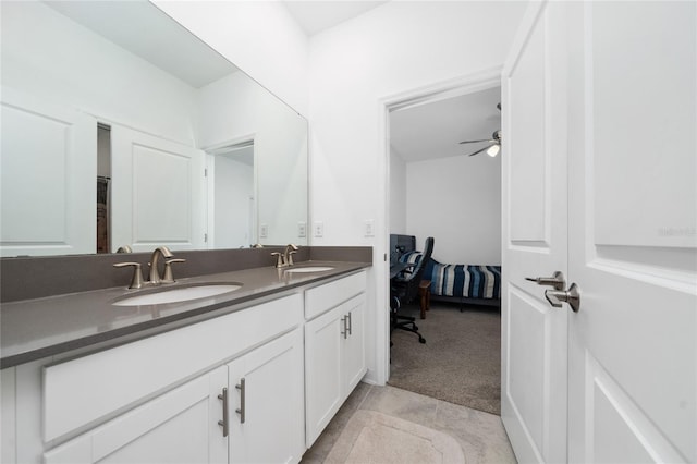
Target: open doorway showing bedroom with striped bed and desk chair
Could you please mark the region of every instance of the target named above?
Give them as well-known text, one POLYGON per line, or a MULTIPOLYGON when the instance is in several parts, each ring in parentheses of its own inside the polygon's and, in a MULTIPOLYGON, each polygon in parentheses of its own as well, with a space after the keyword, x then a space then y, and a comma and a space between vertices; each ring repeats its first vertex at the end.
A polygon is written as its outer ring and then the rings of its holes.
MULTIPOLYGON (((432 236, 436 262, 481 265, 485 277, 472 274, 467 284, 486 279, 493 270, 489 267, 501 264, 501 158, 487 156, 494 145, 487 141, 501 124, 499 101, 500 80, 491 73, 474 85, 388 107, 389 233, 414 235, 417 251, 432 236)), ((389 249, 391 259, 395 253, 389 249)), ((427 265, 423 279, 429 280, 430 272, 427 265)), ((452 284, 463 279, 448 279, 444 293, 453 294, 452 284)), ((442 279, 440 284, 442 290, 442 279)), ((419 298, 403 305, 400 314, 416 318, 426 343, 412 332, 391 332, 388 383, 500 414, 501 316, 492 290, 489 298, 464 304, 433 292, 425 319, 419 298)))

